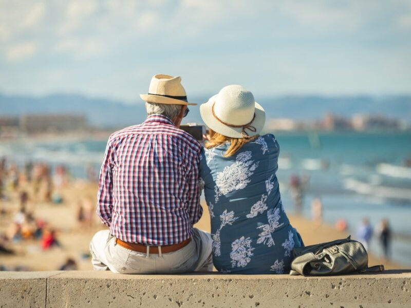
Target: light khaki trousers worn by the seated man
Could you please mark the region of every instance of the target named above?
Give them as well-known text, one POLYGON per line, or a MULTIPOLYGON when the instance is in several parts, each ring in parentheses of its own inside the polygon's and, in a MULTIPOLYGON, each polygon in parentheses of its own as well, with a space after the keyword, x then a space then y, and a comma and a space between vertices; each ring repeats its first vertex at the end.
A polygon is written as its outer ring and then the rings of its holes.
POLYGON ((194 228, 191 242, 168 254, 135 252, 115 243, 108 230, 96 233, 90 243, 95 271, 120 274, 181 274, 213 271, 212 239, 209 233, 194 228))

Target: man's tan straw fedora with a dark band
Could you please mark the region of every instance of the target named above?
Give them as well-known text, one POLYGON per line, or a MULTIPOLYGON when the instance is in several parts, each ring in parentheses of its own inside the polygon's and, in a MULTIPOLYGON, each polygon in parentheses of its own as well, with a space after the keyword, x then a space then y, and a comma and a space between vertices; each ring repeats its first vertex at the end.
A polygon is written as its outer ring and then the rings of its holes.
POLYGON ((187 95, 181 85, 181 77, 158 74, 154 75, 148 88, 148 94, 140 94, 143 101, 159 104, 197 105, 187 102, 187 95))

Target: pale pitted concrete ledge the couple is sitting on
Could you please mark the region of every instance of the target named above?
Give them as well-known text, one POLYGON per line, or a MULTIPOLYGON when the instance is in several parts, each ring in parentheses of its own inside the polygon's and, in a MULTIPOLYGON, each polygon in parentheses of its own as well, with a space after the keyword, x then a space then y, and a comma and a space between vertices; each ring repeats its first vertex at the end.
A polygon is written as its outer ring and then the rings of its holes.
POLYGON ((411 270, 375 275, 0 272, 1 307, 410 307, 411 270))

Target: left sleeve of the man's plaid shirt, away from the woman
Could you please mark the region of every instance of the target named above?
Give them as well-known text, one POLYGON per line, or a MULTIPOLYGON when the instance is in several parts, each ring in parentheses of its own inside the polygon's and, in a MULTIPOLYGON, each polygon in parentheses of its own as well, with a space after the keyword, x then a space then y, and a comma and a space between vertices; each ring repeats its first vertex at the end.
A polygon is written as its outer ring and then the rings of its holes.
POLYGON ((111 210, 113 210, 113 173, 111 171, 112 155, 113 148, 111 148, 110 139, 108 139, 103 164, 100 169, 99 191, 97 193, 97 215, 106 226, 110 226, 111 224, 111 210))

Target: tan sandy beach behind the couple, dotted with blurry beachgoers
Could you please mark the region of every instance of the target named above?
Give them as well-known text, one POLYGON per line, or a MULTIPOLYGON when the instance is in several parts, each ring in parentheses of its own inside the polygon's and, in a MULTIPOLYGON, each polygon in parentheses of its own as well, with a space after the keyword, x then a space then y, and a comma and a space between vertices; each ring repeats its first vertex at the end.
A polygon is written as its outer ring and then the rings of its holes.
MULTIPOLYGON (((5 266, 24 266, 30 271, 52 271, 58 269, 67 258, 77 262, 78 269, 92 269, 89 258, 89 242, 91 237, 105 226, 99 222, 94 215, 94 225, 85 228, 76 219, 78 203, 84 198, 91 198, 95 204, 97 183, 77 180, 61 191, 64 202, 52 204, 38 202, 33 206, 35 217, 45 219, 50 226, 57 230, 60 247, 53 247, 42 251, 40 242, 37 240, 24 240, 8 245, 15 255, 0 255, 0 264, 5 266)), ((9 201, 3 201, 3 208, 7 214, 0 216, 0 232, 6 229, 12 221, 13 213, 17 209, 16 194, 9 201)), ((196 227, 210 231, 210 216, 207 206, 203 204, 204 214, 196 227)), ((298 229, 306 245, 326 242, 334 239, 347 237, 345 232, 340 232, 334 227, 322 224, 316 226, 312 221, 296 216, 289 216, 292 225, 298 229)), ((369 266, 384 264, 387 269, 406 268, 406 266, 386 260, 369 256, 369 266)))

